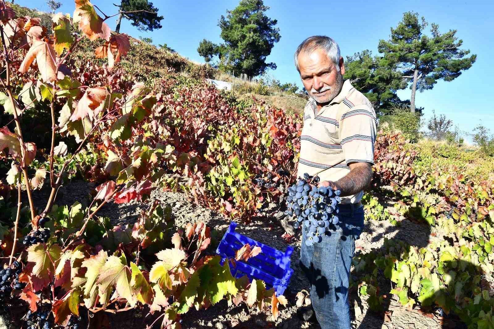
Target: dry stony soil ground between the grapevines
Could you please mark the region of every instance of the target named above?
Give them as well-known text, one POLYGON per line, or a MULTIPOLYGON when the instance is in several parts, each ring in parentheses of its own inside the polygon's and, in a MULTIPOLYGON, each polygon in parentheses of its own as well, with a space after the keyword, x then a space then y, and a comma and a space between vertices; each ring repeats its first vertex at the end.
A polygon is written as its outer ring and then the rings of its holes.
MULTIPOLYGON (((75 201, 86 204, 88 195, 94 189, 94 184, 84 181, 73 181, 60 191, 56 204, 72 205, 75 201), (70 193, 68 193, 70 191, 70 193)), ((37 206, 44 206, 48 190, 36 191, 35 203, 37 206)), ((155 190, 150 199, 144 203, 134 202, 127 205, 111 204, 103 207, 99 212, 101 216, 108 216, 114 225, 133 223, 141 211, 149 204, 158 199, 162 206, 173 208, 172 216, 177 227, 182 227, 187 222, 204 221, 211 230, 216 230, 221 237, 230 220, 214 211, 194 204, 187 199, 183 193, 165 192, 161 189, 155 190)), ((26 200, 27 201, 27 200, 26 200)), ((384 238, 401 239, 412 246, 426 246, 430 235, 428 227, 412 223, 408 220, 401 220, 400 226, 392 225, 387 221, 371 222, 366 220, 366 226, 359 240, 356 242, 357 252, 369 252, 372 248, 379 248, 383 245, 384 238)), ((239 223, 237 232, 244 234, 263 244, 285 250, 287 241, 282 237, 284 229, 276 224, 274 218, 256 218, 251 223, 244 225, 239 223)), ((290 285, 284 293, 288 299, 288 306, 280 306, 280 316, 277 321, 273 321, 270 315, 248 309, 245 305, 229 307, 226 301, 209 307, 207 310, 196 311, 191 309, 182 317, 182 326, 185 329, 252 329, 252 328, 314 328, 320 329, 319 325, 311 325, 300 321, 296 315, 295 295, 302 289, 308 289, 309 283, 301 273, 298 266, 300 256, 300 236, 296 235, 289 245, 294 247, 291 257, 291 267, 294 270, 290 285)), ((380 285, 381 291, 389 291, 389 282, 383 280, 380 285), (387 290, 386 290, 387 289, 387 290)), ((409 311, 402 307, 398 300, 391 294, 387 294, 386 312, 381 314, 371 313, 365 300, 361 300, 356 289, 350 291, 350 309, 352 317, 352 329, 440 329, 440 328, 462 328, 462 326, 451 319, 440 317, 438 314, 422 313, 420 309, 409 311), (458 327, 456 327, 458 326, 458 327)), ((109 320, 112 329, 134 328, 145 329, 152 319, 144 318, 145 313, 125 312, 118 317, 105 319, 109 320)), ((98 326, 99 327, 99 326, 98 326)), ((0 317, 0 329, 1 317, 0 317)))

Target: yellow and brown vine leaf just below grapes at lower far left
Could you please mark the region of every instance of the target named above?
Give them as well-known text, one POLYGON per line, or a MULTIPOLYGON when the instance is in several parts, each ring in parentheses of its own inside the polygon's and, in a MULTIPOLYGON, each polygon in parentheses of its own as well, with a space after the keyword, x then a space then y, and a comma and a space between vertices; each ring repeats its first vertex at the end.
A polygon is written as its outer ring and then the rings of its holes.
POLYGON ((55 273, 55 265, 62 249, 60 246, 53 244, 47 246, 45 244, 36 244, 28 249, 28 262, 32 262, 33 270, 31 280, 33 281, 34 291, 44 288, 51 281, 51 277, 55 273))

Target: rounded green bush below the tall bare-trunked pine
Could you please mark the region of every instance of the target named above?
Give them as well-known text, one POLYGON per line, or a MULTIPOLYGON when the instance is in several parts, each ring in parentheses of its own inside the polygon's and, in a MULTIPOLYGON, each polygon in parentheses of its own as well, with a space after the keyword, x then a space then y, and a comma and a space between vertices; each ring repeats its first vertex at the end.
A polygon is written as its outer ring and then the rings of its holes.
POLYGON ((400 130, 412 142, 420 138, 420 117, 406 109, 396 109, 393 114, 379 118, 379 128, 383 130, 400 130))

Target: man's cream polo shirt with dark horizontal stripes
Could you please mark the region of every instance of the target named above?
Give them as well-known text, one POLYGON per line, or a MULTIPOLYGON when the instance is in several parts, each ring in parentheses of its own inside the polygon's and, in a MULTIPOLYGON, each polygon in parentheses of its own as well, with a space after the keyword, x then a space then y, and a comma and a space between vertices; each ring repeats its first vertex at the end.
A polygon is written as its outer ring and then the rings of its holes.
MULTIPOLYGON (((350 172, 350 163, 374 164, 376 115, 371 102, 349 80, 328 105, 316 111, 311 98, 304 109, 297 177, 307 172, 321 181, 337 181, 350 172)), ((343 197, 341 203, 358 203, 363 195, 343 197)))

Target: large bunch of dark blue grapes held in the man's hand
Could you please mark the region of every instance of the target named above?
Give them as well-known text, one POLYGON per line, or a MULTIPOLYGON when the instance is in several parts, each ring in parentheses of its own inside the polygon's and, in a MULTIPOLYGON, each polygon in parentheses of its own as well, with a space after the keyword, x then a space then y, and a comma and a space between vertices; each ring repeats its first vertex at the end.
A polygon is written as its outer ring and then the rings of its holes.
POLYGON ((328 228, 339 222, 337 204, 341 201, 339 190, 332 190, 327 187, 319 187, 319 177, 312 177, 308 173, 304 178, 300 178, 297 183, 288 188, 286 198, 287 210, 285 214, 296 218, 294 228, 305 225, 309 229, 305 244, 312 246, 320 243, 323 234, 328 232, 328 228))

